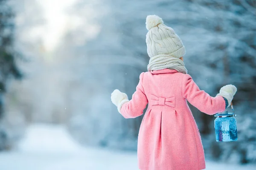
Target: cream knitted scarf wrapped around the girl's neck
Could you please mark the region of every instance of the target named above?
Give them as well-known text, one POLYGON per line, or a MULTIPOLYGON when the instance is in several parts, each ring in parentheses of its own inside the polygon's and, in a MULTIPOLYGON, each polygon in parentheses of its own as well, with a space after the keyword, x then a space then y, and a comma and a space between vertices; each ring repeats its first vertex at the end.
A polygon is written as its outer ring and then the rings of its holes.
POLYGON ((178 72, 184 74, 187 74, 188 72, 184 66, 184 62, 181 59, 166 54, 159 54, 150 58, 148 71, 162 70, 165 68, 177 70, 178 72))

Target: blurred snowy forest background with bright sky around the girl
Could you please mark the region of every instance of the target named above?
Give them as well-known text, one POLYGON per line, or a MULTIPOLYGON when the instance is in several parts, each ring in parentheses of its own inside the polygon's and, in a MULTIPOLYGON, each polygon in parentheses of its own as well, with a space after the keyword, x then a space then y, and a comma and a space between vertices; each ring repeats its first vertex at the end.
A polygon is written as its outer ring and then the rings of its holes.
POLYGON ((180 36, 184 63, 215 96, 236 85, 238 141, 217 143, 214 117, 192 108, 207 159, 256 163, 255 0, 0 0, 0 150, 35 122, 66 125, 79 143, 136 150, 143 116, 111 103, 147 71, 145 18, 180 36))

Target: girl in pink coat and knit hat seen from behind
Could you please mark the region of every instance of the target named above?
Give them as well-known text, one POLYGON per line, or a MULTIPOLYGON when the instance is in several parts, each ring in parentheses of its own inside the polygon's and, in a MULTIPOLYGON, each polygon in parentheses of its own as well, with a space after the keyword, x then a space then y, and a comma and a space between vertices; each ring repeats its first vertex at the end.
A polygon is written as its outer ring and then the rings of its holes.
POLYGON ((213 115, 230 106, 236 87, 226 85, 216 97, 201 91, 187 74, 185 47, 174 30, 156 15, 147 17, 146 28, 148 72, 140 74, 130 101, 119 90, 113 91, 111 101, 125 118, 142 115, 148 104, 138 138, 140 170, 203 170, 201 136, 187 101, 213 115))

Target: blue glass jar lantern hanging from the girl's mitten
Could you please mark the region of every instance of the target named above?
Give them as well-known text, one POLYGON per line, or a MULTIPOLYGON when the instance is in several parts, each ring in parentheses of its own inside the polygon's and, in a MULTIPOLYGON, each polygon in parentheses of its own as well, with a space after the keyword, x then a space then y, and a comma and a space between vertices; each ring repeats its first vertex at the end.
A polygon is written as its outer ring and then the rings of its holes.
MULTIPOLYGON (((232 110, 233 106, 231 105, 232 110)), ((215 136, 217 142, 237 141, 236 114, 229 113, 227 110, 214 115, 215 136)))

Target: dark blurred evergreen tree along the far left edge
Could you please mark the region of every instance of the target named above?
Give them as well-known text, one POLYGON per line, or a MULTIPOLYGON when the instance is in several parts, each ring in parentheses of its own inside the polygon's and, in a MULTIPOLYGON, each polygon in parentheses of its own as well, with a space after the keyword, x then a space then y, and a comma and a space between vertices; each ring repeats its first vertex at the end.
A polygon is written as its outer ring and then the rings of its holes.
MULTIPOLYGON (((4 93, 9 79, 21 78, 16 64, 13 49, 14 13, 7 4, 7 0, 0 0, 0 119, 4 116, 4 93)), ((8 147, 8 136, 2 121, 0 121, 0 150, 8 147)))

